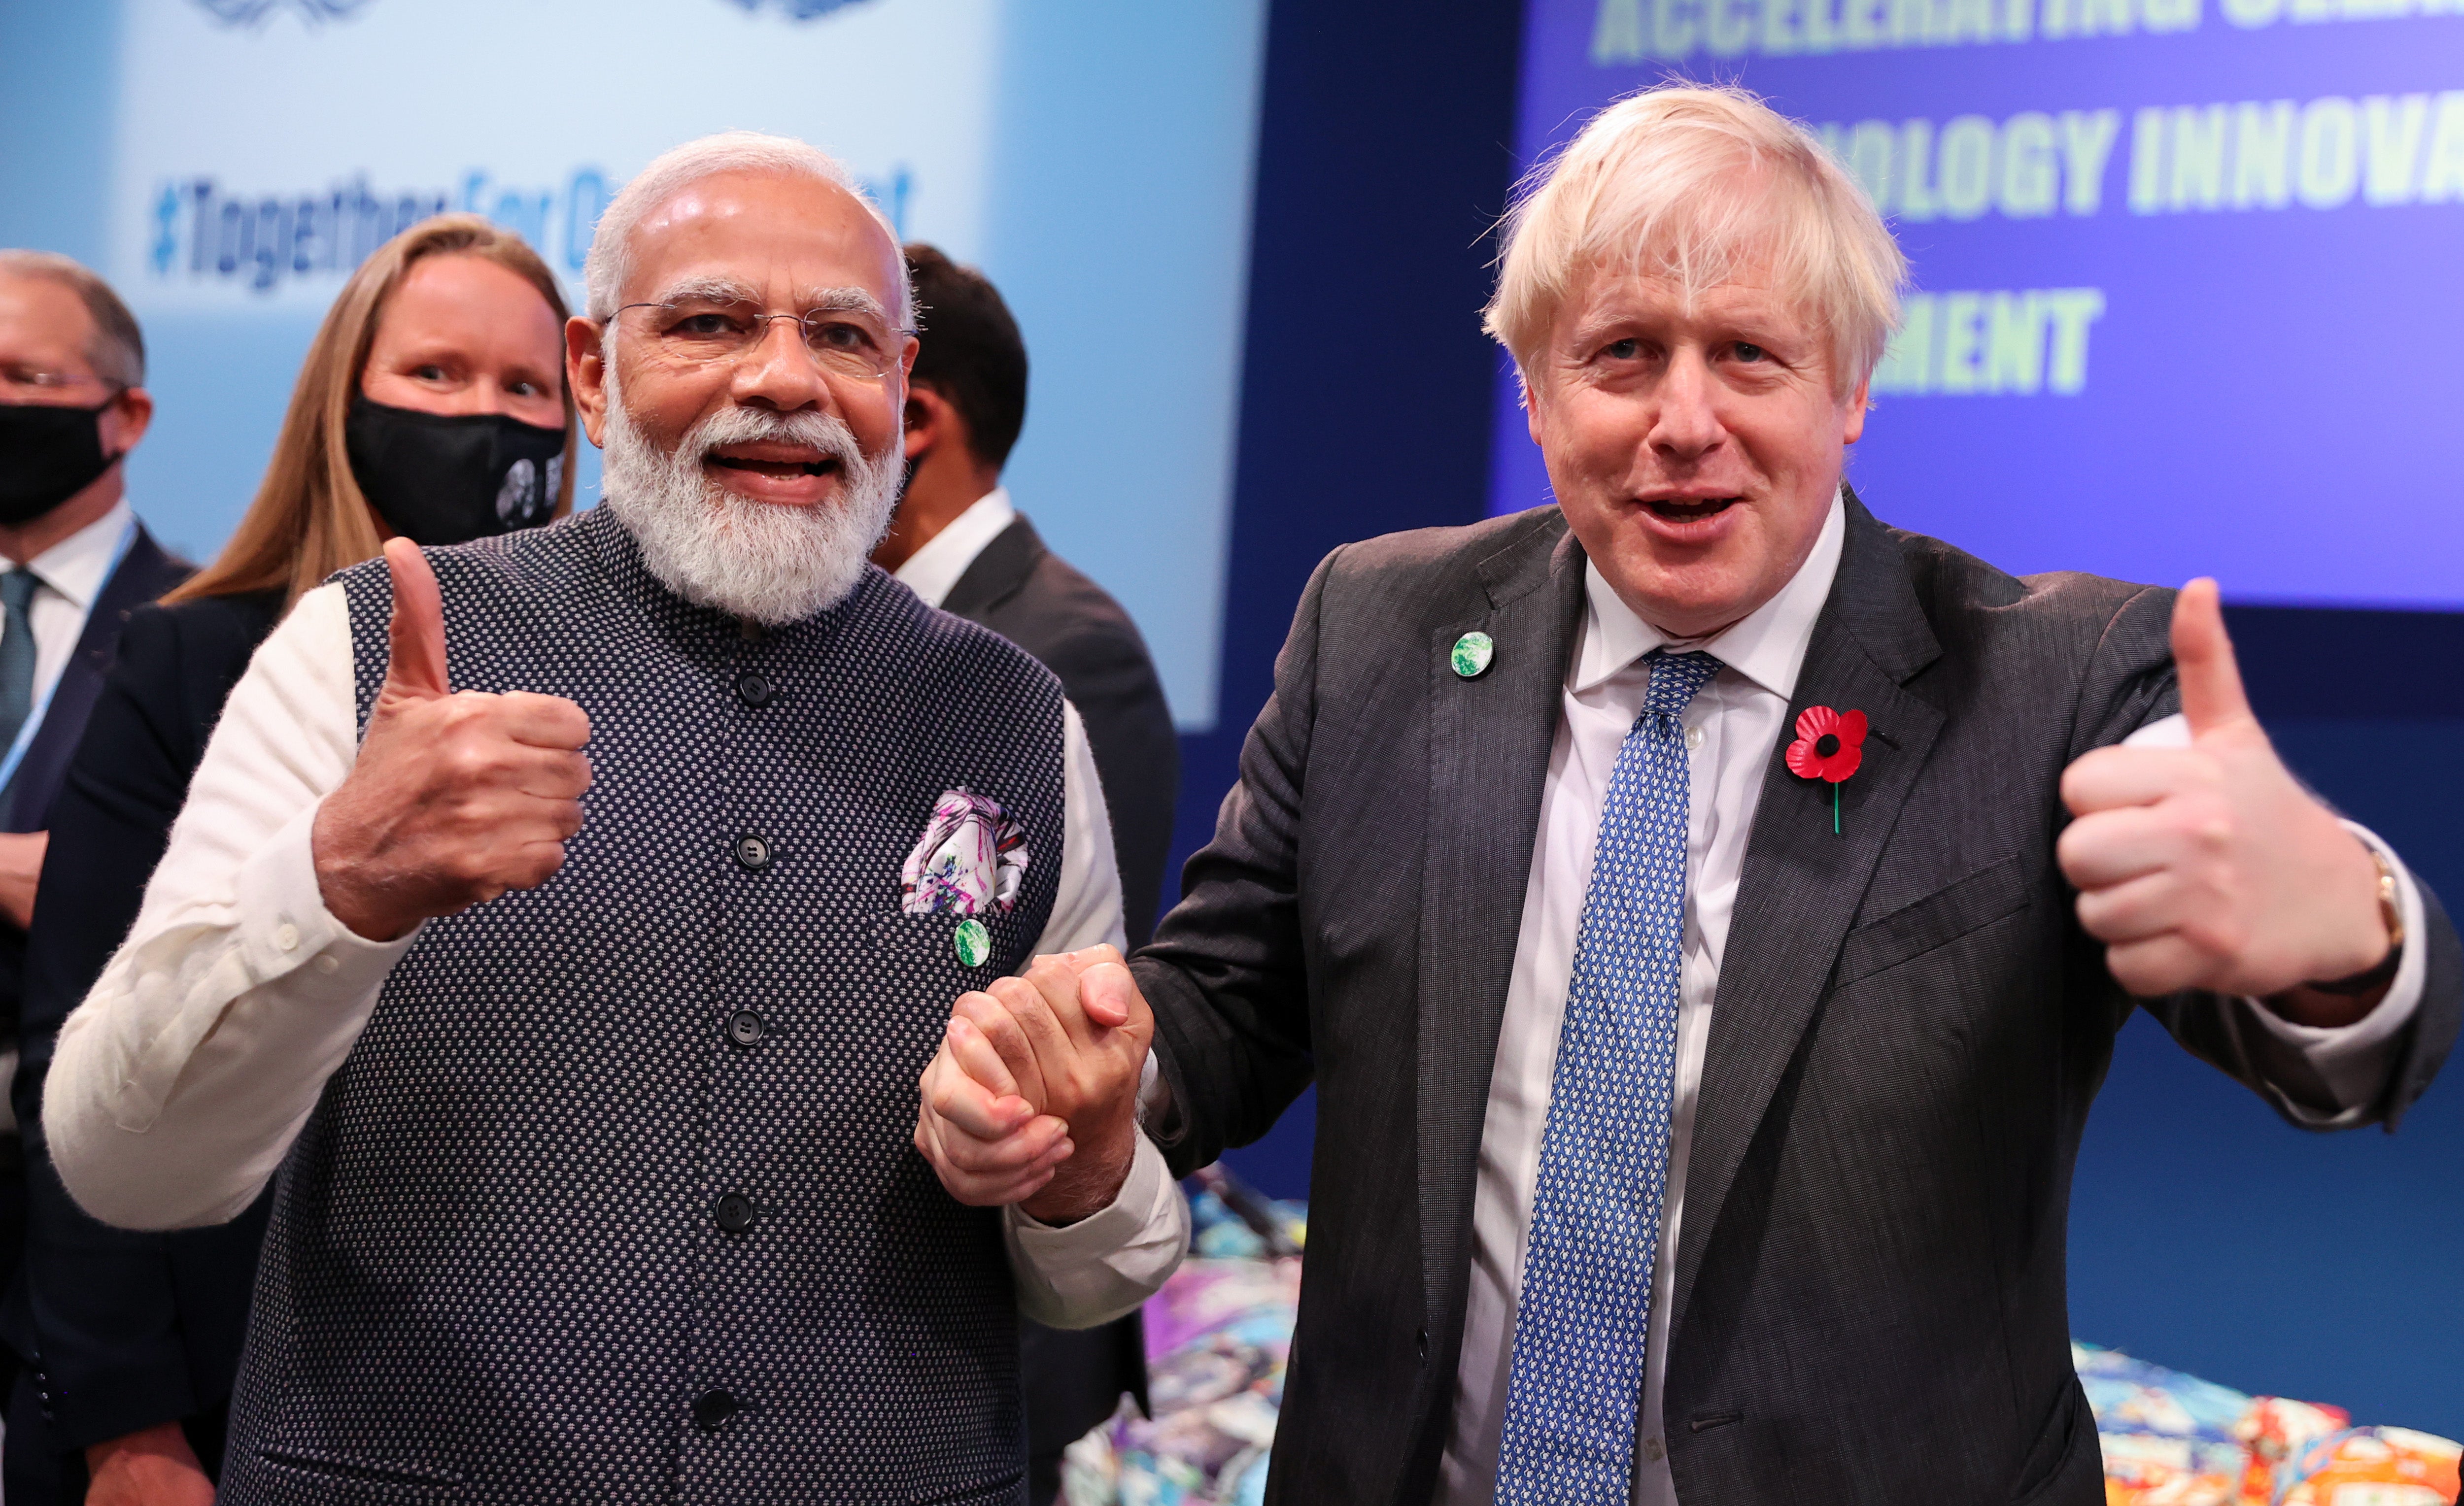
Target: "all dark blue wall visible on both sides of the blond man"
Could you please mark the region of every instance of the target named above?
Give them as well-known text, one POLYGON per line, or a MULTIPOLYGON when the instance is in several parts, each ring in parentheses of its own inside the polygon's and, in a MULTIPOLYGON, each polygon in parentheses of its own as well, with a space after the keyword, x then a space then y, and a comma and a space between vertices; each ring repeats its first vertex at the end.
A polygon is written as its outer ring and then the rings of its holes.
MULTIPOLYGON (((1476 311, 1483 232, 1515 170, 1515 12, 1274 5, 1222 722, 1183 739, 1180 853, 1212 828, 1308 569, 1345 540, 1483 515, 1503 426, 1476 311)), ((1890 518, 1890 498, 1868 500, 1890 518)), ((2464 895, 2464 616, 2230 619, 2287 759, 2434 890, 2464 895)), ((1303 1097, 1227 1161, 1306 1195, 1311 1126, 1303 1097)), ((2080 1156, 2072 1331, 2242 1390, 2464 1437, 2459 1173, 2454 1082, 2402 1134, 2311 1136, 2141 1016, 2080 1156)))

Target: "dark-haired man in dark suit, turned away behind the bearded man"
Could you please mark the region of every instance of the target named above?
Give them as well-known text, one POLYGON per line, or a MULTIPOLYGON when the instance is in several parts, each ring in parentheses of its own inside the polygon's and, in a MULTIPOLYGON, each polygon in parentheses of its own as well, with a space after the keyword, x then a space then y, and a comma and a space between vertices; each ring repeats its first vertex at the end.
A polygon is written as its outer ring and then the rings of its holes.
MULTIPOLYGON (((922 350, 907 380, 907 488, 872 562, 929 606, 988 626, 1045 663, 1087 722, 1121 865, 1131 946, 1156 929, 1173 845, 1180 739, 1156 663, 1121 604, 1045 547, 1010 505, 1000 468, 1027 421, 1027 345, 986 276, 926 244, 907 246, 922 350)), ((1111 1417, 1121 1393, 1146 1405, 1138 1314, 1101 1329, 1025 1331, 1030 1494, 1060 1491, 1060 1452, 1111 1417)))

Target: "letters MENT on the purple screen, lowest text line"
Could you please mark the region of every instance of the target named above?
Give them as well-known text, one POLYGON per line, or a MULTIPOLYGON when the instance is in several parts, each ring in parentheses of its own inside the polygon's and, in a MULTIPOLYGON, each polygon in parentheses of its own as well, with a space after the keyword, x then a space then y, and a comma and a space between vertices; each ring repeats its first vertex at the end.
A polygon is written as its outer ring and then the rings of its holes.
POLYGON ((2087 328, 2102 288, 1910 293, 1873 392, 1905 397, 2030 397, 2087 389, 2087 328))

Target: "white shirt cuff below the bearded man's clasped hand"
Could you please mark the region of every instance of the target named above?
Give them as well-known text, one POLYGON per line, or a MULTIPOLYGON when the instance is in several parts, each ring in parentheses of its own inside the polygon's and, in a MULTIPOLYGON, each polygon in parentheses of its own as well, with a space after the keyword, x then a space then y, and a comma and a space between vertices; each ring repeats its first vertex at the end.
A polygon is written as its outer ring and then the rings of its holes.
POLYGON ((1190 1205, 1163 1151, 1141 1134, 1129 1176, 1104 1210, 1052 1227, 1023 1208, 1005 1208, 1003 1237, 1018 1311, 1052 1329, 1094 1329, 1163 1289, 1190 1247, 1190 1205))

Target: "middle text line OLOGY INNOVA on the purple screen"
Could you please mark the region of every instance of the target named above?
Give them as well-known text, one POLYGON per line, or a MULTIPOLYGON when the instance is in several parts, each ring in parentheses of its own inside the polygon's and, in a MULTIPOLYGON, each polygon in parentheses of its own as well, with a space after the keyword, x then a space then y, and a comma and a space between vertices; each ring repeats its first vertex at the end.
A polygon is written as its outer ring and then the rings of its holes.
POLYGON ((2464 89, 1816 131, 1900 222, 2099 214, 2117 148, 2131 214, 2464 205, 2464 89))

